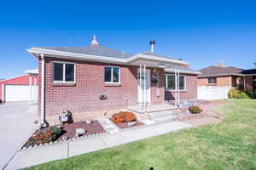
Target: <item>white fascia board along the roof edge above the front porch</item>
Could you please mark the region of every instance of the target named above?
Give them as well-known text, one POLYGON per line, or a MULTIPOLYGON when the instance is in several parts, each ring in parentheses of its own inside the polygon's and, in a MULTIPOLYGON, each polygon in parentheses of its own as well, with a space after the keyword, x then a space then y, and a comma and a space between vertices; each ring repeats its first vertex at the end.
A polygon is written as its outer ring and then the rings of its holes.
POLYGON ((149 59, 149 60, 157 60, 157 61, 161 61, 161 62, 168 62, 168 63, 177 63, 177 64, 181 64, 181 65, 187 65, 189 64, 186 61, 183 60, 178 60, 178 59, 167 59, 167 58, 162 58, 162 57, 157 57, 157 56, 151 56, 151 55, 144 55, 144 54, 137 54, 134 55, 132 57, 130 57, 129 59, 127 59, 127 62, 131 62, 135 59, 149 59))

